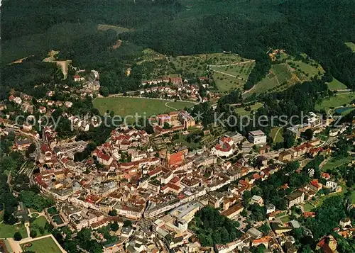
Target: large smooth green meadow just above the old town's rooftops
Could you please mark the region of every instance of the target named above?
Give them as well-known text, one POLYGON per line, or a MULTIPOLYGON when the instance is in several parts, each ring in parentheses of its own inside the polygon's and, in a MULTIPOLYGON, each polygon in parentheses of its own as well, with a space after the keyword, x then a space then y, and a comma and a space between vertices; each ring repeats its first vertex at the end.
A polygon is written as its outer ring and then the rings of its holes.
POLYGON ((97 108, 100 113, 105 113, 107 110, 114 111, 115 115, 121 117, 138 113, 138 116, 153 116, 159 113, 168 113, 175 111, 175 109, 183 109, 186 106, 193 106, 194 103, 185 101, 163 101, 158 99, 138 99, 129 97, 114 97, 114 98, 97 98, 93 101, 94 107, 97 108), (168 108, 167 106, 173 108, 168 108))

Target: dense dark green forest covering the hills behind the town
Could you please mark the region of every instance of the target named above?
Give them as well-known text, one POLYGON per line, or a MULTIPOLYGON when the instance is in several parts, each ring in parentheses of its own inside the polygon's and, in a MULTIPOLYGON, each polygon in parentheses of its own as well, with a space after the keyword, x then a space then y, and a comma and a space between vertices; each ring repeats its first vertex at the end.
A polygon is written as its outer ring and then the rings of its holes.
MULTIPOLYGON (((226 50, 256 59, 244 87, 249 89, 270 69, 266 52, 273 47, 307 53, 354 88, 355 54, 344 44, 355 41, 354 9, 351 0, 4 0, 1 62, 60 50, 60 59, 98 69, 107 94, 138 87, 141 69, 133 62, 143 48, 167 55, 226 50), (131 30, 97 30, 102 23, 131 30), (123 45, 112 50, 119 38, 123 45), (131 77, 125 75, 127 64, 133 64, 131 77)), ((13 82, 1 77, 2 84, 13 82)))

